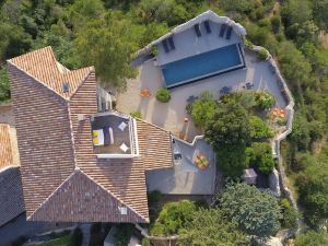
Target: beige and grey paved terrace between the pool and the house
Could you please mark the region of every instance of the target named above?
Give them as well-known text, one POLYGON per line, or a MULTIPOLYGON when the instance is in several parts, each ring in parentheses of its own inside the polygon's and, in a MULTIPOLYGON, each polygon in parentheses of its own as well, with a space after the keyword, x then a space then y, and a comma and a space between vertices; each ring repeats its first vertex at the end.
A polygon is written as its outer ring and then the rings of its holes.
POLYGON ((117 107, 119 110, 130 114, 140 110, 142 118, 154 125, 178 134, 186 128, 187 140, 192 141, 195 136, 201 132, 195 128, 189 120, 188 125, 184 124, 187 99, 189 96, 198 96, 203 91, 210 91, 219 98, 220 90, 223 86, 232 86, 233 91, 242 91, 246 82, 254 83, 253 90, 269 91, 276 97, 277 107, 284 108, 284 101, 277 83, 277 78, 269 68, 268 62, 258 61, 256 55, 250 51, 245 52, 247 68, 231 71, 224 74, 215 75, 187 85, 181 85, 171 90, 172 98, 167 104, 156 101, 156 91, 164 86, 161 70, 154 66, 152 60, 144 62, 139 69, 136 79, 130 80, 125 93, 117 95, 117 107), (150 97, 141 97, 140 91, 149 89, 152 93, 150 97))

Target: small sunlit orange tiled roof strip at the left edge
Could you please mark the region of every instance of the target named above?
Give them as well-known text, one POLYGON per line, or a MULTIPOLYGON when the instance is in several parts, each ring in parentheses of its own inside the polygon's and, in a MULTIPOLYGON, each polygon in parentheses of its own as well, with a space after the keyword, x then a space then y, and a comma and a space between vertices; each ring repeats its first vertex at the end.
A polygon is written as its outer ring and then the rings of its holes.
POLYGON ((13 164, 13 156, 10 142, 10 126, 0 124, 0 169, 13 164))

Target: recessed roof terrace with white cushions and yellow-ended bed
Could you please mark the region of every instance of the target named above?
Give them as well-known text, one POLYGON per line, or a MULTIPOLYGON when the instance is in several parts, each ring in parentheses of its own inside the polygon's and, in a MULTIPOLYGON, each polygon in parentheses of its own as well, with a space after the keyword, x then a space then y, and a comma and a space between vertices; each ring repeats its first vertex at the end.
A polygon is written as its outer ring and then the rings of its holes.
POLYGON ((134 154, 134 131, 131 117, 116 112, 99 113, 92 118, 96 154, 134 154))

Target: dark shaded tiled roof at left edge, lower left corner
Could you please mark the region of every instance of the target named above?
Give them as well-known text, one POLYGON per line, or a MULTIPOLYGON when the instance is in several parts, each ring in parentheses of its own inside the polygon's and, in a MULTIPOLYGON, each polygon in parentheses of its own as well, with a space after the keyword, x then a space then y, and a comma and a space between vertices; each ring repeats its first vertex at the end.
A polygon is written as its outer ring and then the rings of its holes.
POLYGON ((0 171, 0 226, 24 212, 20 167, 0 171))

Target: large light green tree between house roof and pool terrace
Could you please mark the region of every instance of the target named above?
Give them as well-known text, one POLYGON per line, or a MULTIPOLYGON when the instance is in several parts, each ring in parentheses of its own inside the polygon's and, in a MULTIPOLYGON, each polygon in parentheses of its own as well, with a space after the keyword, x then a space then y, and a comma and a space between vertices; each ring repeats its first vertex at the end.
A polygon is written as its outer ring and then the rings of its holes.
POLYGON ((120 14, 108 12, 98 21, 91 21, 77 34, 77 56, 83 66, 95 66, 103 84, 124 90, 127 79, 136 77, 130 61, 136 50, 131 38, 132 24, 120 14))

